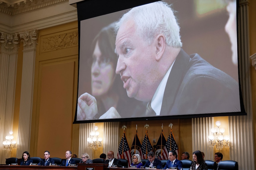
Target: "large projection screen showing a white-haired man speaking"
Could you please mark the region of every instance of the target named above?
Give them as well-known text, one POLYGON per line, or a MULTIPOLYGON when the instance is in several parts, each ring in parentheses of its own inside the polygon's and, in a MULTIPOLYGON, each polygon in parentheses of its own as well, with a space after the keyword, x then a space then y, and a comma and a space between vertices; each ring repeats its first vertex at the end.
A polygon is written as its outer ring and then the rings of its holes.
POLYGON ((74 123, 246 115, 236 1, 88 0, 77 9, 74 123))

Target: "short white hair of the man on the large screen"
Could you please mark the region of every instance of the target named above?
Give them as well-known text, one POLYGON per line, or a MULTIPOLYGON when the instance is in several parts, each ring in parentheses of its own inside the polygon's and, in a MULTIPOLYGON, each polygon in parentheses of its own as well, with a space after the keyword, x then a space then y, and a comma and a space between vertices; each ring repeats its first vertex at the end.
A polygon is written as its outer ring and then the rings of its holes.
POLYGON ((134 20, 138 35, 142 36, 147 45, 157 35, 163 34, 168 46, 182 47, 180 27, 173 9, 166 2, 158 1, 132 8, 117 21, 115 32, 118 32, 123 22, 130 19, 134 20))

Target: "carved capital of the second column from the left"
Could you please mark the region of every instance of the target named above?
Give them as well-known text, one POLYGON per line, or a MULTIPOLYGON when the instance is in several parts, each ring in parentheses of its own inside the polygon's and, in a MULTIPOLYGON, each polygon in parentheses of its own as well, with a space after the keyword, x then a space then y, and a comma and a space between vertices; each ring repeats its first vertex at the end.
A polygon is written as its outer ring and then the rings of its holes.
POLYGON ((35 50, 37 46, 37 35, 38 31, 36 29, 33 29, 31 31, 24 31, 20 32, 20 39, 23 43, 23 49, 24 50, 35 50))

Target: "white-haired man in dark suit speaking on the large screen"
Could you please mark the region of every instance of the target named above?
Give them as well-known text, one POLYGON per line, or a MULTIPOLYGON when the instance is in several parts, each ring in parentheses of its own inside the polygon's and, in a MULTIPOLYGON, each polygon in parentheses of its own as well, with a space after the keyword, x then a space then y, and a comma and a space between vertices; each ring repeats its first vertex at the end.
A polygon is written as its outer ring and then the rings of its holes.
POLYGON ((180 28, 167 3, 132 8, 115 31, 116 74, 130 98, 148 102, 141 117, 224 113, 240 106, 232 77, 181 48, 180 28))

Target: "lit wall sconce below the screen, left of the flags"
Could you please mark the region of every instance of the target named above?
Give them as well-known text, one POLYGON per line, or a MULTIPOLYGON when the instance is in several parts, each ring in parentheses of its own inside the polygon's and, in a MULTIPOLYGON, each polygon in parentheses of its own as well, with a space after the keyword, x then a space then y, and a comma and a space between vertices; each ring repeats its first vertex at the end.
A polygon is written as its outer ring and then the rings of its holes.
POLYGON ((90 137, 87 138, 87 147, 97 150, 102 147, 102 137, 99 136, 98 126, 94 127, 94 131, 90 132, 90 137))

